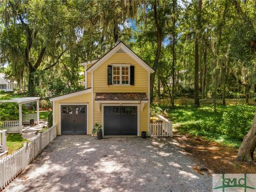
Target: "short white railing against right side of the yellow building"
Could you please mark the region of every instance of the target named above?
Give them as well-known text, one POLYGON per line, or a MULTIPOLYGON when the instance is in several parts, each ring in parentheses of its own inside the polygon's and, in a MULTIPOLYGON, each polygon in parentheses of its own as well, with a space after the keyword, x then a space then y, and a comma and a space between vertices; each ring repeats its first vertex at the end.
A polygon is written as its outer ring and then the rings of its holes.
POLYGON ((150 123, 150 137, 172 137, 172 122, 161 115, 157 117, 163 122, 150 123))

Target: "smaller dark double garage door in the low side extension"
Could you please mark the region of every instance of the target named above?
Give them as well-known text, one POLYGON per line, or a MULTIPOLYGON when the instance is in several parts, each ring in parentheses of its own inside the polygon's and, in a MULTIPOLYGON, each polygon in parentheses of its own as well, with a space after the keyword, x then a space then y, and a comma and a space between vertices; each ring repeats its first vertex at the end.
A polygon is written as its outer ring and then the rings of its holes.
POLYGON ((61 134, 87 134, 86 105, 61 106, 61 134))

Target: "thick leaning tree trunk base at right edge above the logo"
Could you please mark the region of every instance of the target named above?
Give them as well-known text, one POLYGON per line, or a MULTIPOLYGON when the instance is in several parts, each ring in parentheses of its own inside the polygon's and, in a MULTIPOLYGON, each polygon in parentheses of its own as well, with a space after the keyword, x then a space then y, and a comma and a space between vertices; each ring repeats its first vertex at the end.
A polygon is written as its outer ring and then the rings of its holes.
POLYGON ((253 163, 253 153, 256 148, 256 113, 249 132, 245 135, 237 154, 237 161, 246 161, 253 163))

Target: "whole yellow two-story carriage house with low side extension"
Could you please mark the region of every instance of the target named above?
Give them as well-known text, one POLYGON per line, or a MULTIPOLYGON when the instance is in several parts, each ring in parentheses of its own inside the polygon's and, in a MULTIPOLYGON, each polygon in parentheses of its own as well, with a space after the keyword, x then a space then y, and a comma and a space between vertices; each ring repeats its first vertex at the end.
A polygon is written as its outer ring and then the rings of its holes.
POLYGON ((124 43, 84 62, 85 89, 51 98, 57 134, 149 135, 150 73, 154 70, 124 43))

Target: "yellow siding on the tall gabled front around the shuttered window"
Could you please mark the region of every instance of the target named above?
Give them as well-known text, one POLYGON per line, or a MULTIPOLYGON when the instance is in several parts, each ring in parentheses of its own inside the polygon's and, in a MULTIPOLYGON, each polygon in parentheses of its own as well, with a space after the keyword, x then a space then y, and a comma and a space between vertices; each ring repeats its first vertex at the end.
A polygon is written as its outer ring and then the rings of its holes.
MULTIPOLYGON (((115 53, 107 61, 102 63, 97 69, 93 71, 93 100, 97 92, 145 92, 148 94, 148 71, 144 69, 139 63, 135 62, 127 53, 115 53), (108 85, 107 84, 107 66, 111 64, 131 64, 134 66, 134 85, 108 85)), ((93 123, 102 124, 102 110, 98 110, 98 103, 94 101, 94 121, 93 123)), ((148 103, 146 103, 144 110, 140 110, 140 133, 147 131, 149 127, 148 122, 148 103)))

